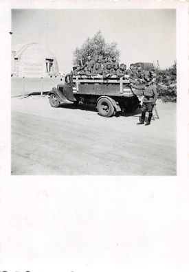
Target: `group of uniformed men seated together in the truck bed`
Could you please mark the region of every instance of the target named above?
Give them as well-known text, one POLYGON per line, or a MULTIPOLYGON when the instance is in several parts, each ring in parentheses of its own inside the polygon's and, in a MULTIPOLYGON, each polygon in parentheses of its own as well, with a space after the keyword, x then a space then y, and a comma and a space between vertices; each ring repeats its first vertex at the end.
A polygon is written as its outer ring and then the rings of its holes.
POLYGON ((91 56, 87 57, 85 65, 78 65, 74 70, 74 76, 103 76, 104 78, 109 78, 111 76, 117 76, 121 78, 122 76, 129 75, 129 80, 132 84, 141 84, 147 82, 148 78, 153 78, 155 76, 155 70, 145 72, 142 66, 138 64, 135 66, 131 63, 129 69, 126 69, 124 63, 119 64, 115 56, 111 58, 99 57, 96 62, 92 60, 91 56))

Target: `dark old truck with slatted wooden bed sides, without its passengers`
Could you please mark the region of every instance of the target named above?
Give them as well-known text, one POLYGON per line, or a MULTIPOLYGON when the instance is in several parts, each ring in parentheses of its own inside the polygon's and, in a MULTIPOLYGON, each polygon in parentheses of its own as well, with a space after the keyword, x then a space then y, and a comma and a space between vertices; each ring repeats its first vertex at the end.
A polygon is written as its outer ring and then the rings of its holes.
POLYGON ((133 92, 129 75, 122 78, 111 76, 65 76, 65 84, 58 84, 49 92, 49 103, 57 108, 69 100, 74 104, 93 104, 99 115, 111 117, 117 112, 133 112, 140 102, 133 92))

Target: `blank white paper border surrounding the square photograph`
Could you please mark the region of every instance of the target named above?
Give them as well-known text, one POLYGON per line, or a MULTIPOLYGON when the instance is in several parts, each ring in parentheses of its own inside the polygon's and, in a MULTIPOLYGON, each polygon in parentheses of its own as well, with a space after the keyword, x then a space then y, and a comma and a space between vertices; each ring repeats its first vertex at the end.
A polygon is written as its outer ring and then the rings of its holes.
POLYGON ((187 3, 2 1, 0 271, 188 271, 187 3), (177 8, 177 177, 10 176, 11 8, 177 8))

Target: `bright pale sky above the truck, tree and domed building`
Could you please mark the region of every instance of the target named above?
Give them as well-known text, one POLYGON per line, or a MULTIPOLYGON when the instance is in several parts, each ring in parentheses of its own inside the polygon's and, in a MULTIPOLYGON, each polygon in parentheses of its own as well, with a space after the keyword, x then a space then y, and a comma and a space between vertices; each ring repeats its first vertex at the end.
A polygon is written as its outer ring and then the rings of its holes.
POLYGON ((175 10, 12 10, 12 45, 40 43, 70 71, 73 52, 101 30, 115 41, 120 61, 157 62, 161 68, 176 60, 175 10))

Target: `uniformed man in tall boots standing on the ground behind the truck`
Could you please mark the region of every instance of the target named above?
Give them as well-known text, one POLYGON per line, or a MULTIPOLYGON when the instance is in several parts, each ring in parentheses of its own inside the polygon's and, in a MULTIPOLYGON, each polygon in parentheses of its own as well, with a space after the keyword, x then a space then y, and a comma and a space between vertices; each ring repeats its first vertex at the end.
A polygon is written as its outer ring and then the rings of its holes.
POLYGON ((153 107, 155 106, 155 102, 158 96, 155 78, 153 78, 151 82, 149 82, 148 86, 140 87, 139 85, 136 85, 135 89, 143 90, 144 93, 141 120, 137 124, 144 124, 146 112, 148 112, 148 121, 145 124, 145 126, 148 126, 149 124, 151 124, 151 118, 153 116, 153 107))

